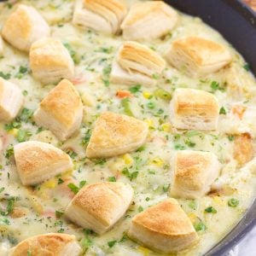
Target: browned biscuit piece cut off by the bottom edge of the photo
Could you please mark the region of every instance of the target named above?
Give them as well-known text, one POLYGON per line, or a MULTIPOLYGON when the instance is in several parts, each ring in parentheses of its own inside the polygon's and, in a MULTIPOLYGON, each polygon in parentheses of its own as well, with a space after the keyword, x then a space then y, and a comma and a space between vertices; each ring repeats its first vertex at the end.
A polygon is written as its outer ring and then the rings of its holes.
POLYGON ((9 256, 79 256, 82 252, 75 236, 49 233, 27 238, 10 249, 9 256))

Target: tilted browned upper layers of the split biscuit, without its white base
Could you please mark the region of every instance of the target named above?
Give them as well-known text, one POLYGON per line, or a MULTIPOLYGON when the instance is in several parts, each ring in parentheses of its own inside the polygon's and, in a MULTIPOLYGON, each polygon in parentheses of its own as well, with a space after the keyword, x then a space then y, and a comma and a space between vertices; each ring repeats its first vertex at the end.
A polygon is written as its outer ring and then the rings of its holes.
POLYGON ((154 50, 132 41, 121 46, 117 60, 126 71, 143 73, 149 77, 162 73, 166 66, 166 62, 154 50))

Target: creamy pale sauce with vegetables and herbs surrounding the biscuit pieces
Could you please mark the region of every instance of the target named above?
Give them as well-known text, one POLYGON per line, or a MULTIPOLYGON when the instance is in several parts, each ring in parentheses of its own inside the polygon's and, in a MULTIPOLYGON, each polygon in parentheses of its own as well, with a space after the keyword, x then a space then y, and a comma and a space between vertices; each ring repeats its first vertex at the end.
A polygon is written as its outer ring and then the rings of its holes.
MULTIPOLYGON (((129 5, 137 0, 127 0, 129 5)), ((84 255, 159 255, 159 253, 138 246, 137 243, 124 236, 128 230, 131 218, 143 207, 163 201, 168 196, 168 186, 172 183, 172 156, 179 148, 211 151, 218 155, 222 164, 222 174, 216 186, 229 187, 229 193, 220 196, 204 196, 196 201, 178 200, 185 212, 189 214, 194 224, 201 219, 206 230, 199 231, 200 242, 195 247, 189 248, 178 255, 200 255, 216 244, 239 221, 242 214, 252 203, 255 195, 256 172, 255 165, 251 163, 242 169, 233 159, 234 142, 228 135, 249 132, 254 138, 256 135, 255 119, 255 88, 256 83, 251 73, 243 66, 245 61, 224 38, 211 27, 204 24, 199 18, 181 15, 181 19, 172 36, 165 39, 150 40, 145 42, 160 55, 164 55, 173 40, 186 36, 199 36, 209 38, 230 49, 233 63, 231 67, 208 75, 203 80, 191 79, 173 67, 167 65, 163 78, 159 79, 157 86, 144 87, 131 98, 131 111, 138 119, 148 122, 150 133, 148 142, 142 152, 125 154, 102 162, 94 162, 85 158, 85 146, 82 140, 87 131, 91 131, 97 116, 105 110, 116 113, 125 113, 121 101, 115 96, 117 90, 128 90, 122 84, 106 86, 102 79, 108 79, 109 67, 113 57, 123 39, 106 37, 93 31, 85 31, 71 24, 73 15, 73 1, 19 1, 37 8, 51 25, 52 37, 60 38, 63 44, 69 44, 73 49, 76 64, 76 88, 79 90, 84 102, 84 119, 80 131, 65 143, 61 144, 50 131, 38 132, 38 127, 33 125, 32 119, 21 122, 18 129, 6 131, 5 124, 0 124, 0 150, 1 170, 0 209, 4 211, 8 199, 17 197, 15 208, 21 208, 26 215, 13 218, 12 214, 0 216, 0 254, 8 252, 9 247, 29 236, 48 233, 65 232, 74 234, 81 244, 87 244, 88 249, 84 255), (236 72, 234 72, 234 69, 236 72), (105 73, 105 74, 104 74, 105 73), (219 129, 214 132, 188 133, 176 131, 170 125, 169 101, 156 99, 154 90, 158 87, 172 91, 178 87, 197 88, 212 91, 212 81, 218 82, 225 90, 215 90, 221 106, 227 111, 220 115, 219 129), (79 84, 77 82, 80 82, 79 84), (150 96, 153 96, 150 98, 150 96), (148 98, 149 97, 149 98, 148 98), (147 108, 148 102, 154 102, 154 108, 147 108), (237 119, 231 112, 234 105, 247 108, 244 117, 237 119), (25 188, 21 185, 15 169, 14 158, 9 159, 7 149, 17 142, 17 133, 20 130, 30 131, 33 139, 52 143, 62 149, 72 149, 75 168, 72 173, 55 177, 35 188, 25 188), (177 136, 178 135, 178 136, 177 136), (191 133, 190 133, 191 135, 191 133), (193 134, 192 134, 193 135, 193 134), (190 142, 190 143, 189 143, 190 142), (192 144, 191 144, 192 143, 192 144), (138 172, 133 180, 125 177, 122 170, 127 167, 130 172, 138 172), (135 189, 134 203, 118 224, 103 236, 84 236, 84 231, 70 223, 66 218, 55 218, 55 211, 64 212, 73 193, 67 188, 67 183, 79 186, 81 181, 96 183, 108 181, 108 177, 117 177, 117 180, 131 183, 135 189), (66 183, 58 184, 60 178, 66 183), (230 198, 239 200, 237 207, 229 207, 230 198), (217 213, 207 213, 207 207, 214 207, 217 213), (122 237, 125 237, 122 239, 122 237), (84 240, 85 239, 85 240, 84 240), (84 241, 86 241, 84 243, 84 241), (108 246, 108 241, 117 241, 113 247, 108 246)), ((7 3, 0 3, 0 27, 14 7, 7 3)), ((38 103, 49 93, 54 85, 43 86, 32 78, 26 54, 4 43, 4 55, 0 59, 0 71, 9 74, 10 81, 20 86, 25 95, 24 108, 34 111, 38 103), (20 67, 27 67, 28 72, 20 73, 20 67)), ((254 144, 254 141, 253 141, 254 144)), ((255 146, 255 145, 254 145, 255 146)), ((255 161, 255 160, 254 160, 255 161)), ((85 247, 84 247, 85 248, 85 247)))

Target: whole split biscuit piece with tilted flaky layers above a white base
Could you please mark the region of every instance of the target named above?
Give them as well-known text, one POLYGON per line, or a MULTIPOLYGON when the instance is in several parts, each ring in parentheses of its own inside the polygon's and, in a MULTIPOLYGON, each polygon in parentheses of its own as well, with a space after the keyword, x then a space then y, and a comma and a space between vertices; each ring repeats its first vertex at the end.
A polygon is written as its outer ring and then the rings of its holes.
POLYGON ((154 50, 143 44, 127 41, 119 49, 110 74, 114 84, 154 85, 166 62, 154 50))

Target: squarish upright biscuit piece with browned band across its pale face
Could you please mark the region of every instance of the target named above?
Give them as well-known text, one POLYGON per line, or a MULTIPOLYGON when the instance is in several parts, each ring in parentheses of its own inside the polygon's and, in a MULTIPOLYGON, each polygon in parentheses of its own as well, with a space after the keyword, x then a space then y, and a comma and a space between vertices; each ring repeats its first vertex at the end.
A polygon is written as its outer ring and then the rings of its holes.
POLYGON ((218 100, 209 92, 179 88, 175 90, 170 106, 172 125, 178 129, 217 129, 218 100))

